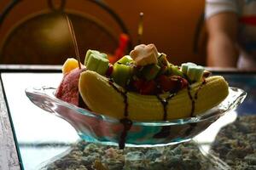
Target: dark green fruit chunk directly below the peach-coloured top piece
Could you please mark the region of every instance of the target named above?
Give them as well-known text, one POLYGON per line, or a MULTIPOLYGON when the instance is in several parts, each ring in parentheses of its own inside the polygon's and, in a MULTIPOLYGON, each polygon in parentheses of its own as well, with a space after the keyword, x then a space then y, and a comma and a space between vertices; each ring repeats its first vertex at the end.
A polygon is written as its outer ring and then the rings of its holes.
POLYGON ((150 81, 150 80, 153 80, 154 77, 157 76, 160 69, 161 68, 160 68, 159 65, 155 65, 155 64, 146 65, 146 66, 143 67, 142 75, 147 81, 150 81))

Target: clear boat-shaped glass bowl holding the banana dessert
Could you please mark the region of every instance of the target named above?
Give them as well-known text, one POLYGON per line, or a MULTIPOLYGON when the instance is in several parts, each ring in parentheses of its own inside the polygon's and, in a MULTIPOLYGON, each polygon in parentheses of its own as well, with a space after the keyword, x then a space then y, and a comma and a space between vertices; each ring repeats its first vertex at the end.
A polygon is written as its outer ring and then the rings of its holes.
MULTIPOLYGON (((229 88, 229 95, 218 106, 199 116, 165 122, 133 122, 125 146, 160 146, 188 141, 204 131, 226 112, 235 109, 247 93, 229 88)), ((55 88, 26 88, 26 96, 44 111, 69 122, 87 142, 118 145, 123 124, 118 119, 96 114, 55 98, 55 88)))

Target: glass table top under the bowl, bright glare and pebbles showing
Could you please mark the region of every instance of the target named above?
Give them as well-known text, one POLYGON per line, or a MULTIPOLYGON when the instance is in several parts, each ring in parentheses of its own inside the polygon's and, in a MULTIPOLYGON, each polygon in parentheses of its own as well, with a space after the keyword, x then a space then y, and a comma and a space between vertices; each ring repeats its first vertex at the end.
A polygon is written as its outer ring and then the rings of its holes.
POLYGON ((26 88, 56 88, 61 82, 61 73, 1 73, 15 128, 21 168, 256 168, 256 144, 252 142, 256 141, 256 74, 227 73, 223 76, 230 82, 230 86, 247 91, 247 99, 236 111, 220 117, 206 131, 187 143, 118 150, 116 147, 81 141, 68 122, 41 110, 26 97, 26 88), (239 140, 240 144, 237 143, 239 140), (168 156, 172 160, 168 160, 168 156))

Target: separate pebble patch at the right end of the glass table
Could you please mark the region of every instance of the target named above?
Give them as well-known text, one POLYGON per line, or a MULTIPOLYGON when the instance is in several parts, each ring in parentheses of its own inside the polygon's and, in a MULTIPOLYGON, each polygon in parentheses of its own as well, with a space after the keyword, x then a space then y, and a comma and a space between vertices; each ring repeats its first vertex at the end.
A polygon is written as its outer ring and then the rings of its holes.
POLYGON ((212 150, 232 169, 256 170, 256 116, 239 116, 221 129, 212 150))

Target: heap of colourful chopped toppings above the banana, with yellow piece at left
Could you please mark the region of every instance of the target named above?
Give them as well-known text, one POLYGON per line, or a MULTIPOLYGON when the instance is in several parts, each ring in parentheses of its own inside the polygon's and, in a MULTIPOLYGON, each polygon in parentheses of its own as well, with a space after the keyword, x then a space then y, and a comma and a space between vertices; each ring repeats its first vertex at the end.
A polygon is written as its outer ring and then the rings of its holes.
MULTIPOLYGON (((65 66, 67 71, 73 59, 65 66), (67 68, 66 68, 67 67, 67 68)), ((74 64, 73 64, 74 62, 74 64)), ((96 71, 125 88, 139 94, 177 93, 193 82, 200 82, 210 72, 201 65, 183 63, 181 67, 170 63, 166 54, 158 53, 154 44, 141 44, 135 47, 130 55, 125 55, 115 63, 109 63, 107 54, 96 50, 88 50, 84 65, 89 71, 96 71)))

